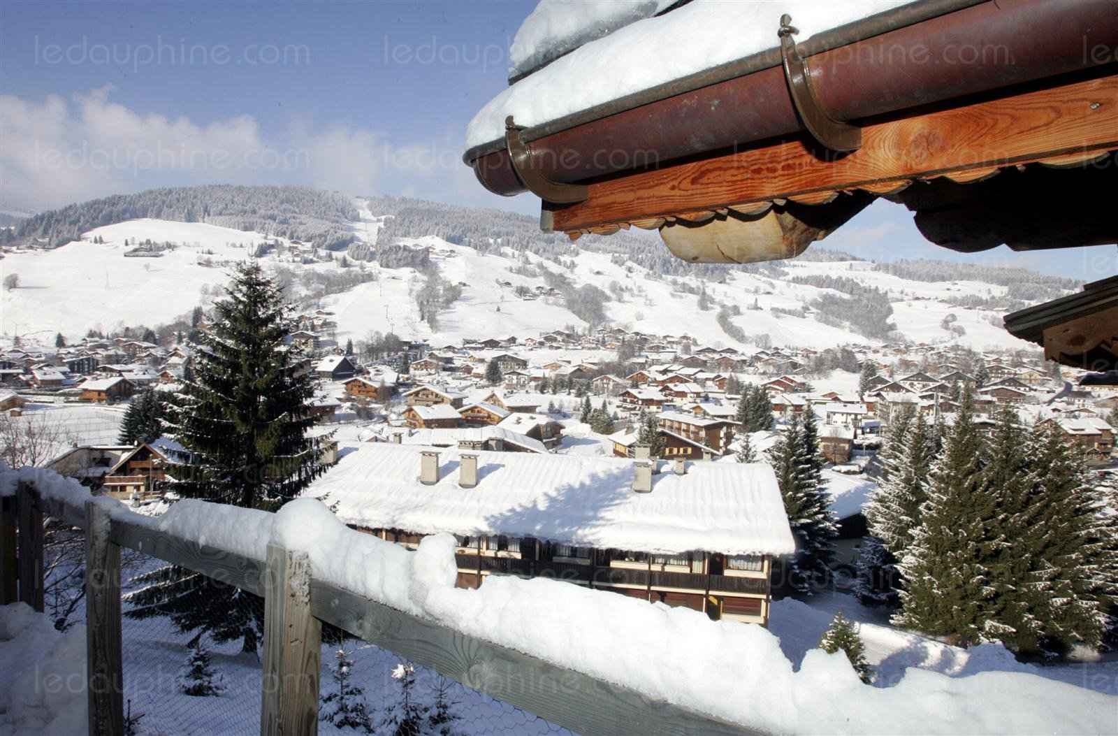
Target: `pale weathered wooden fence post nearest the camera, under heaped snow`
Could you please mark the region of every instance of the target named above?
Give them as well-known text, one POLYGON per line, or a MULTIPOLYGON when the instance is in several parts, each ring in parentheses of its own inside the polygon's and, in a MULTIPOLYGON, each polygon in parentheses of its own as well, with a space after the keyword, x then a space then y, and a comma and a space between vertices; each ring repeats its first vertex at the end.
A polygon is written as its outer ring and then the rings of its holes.
POLYGON ((264 581, 262 736, 319 733, 322 622, 311 615, 311 560, 268 545, 264 581))

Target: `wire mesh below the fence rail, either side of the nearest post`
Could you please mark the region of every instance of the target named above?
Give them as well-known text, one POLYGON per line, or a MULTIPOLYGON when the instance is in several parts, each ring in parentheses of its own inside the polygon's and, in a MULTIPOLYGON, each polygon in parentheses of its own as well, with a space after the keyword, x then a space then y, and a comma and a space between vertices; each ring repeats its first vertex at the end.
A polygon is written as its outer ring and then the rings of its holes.
MULTIPOLYGON (((263 601, 139 553, 122 577, 126 733, 260 733, 263 601)), ((570 734, 332 626, 319 701, 321 734, 570 734)))

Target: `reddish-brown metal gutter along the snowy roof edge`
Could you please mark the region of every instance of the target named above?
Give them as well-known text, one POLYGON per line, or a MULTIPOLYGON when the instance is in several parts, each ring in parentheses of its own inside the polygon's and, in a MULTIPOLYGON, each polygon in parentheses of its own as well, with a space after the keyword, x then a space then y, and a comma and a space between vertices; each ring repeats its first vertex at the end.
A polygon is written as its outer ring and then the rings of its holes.
MULTIPOLYGON (((833 117, 854 121, 1112 63, 1118 4, 925 0, 816 35, 797 48, 809 57, 819 103, 833 117), (1089 53, 1096 47, 1111 54, 1089 53), (959 57, 954 63, 953 50, 959 57)), ((521 136, 543 176, 574 182, 796 134, 803 123, 780 64, 774 47, 525 129, 521 136)), ((490 191, 525 190, 503 140, 463 158, 490 191)))

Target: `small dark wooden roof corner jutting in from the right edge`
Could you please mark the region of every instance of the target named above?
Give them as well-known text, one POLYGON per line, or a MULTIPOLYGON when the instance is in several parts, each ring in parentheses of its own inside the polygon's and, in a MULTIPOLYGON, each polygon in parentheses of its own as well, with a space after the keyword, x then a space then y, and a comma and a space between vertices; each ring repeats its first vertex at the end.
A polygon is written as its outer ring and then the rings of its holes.
POLYGON ((1049 360, 1098 372, 1118 370, 1118 276, 1007 314, 1005 329, 1042 346, 1049 360))

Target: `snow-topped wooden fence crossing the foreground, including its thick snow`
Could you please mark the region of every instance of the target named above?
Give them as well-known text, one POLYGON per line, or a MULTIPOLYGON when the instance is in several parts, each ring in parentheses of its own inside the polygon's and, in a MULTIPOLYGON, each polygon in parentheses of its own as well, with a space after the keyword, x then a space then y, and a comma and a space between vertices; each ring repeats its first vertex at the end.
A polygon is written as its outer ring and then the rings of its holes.
MULTIPOLYGON (((844 655, 822 650, 794 671, 760 626, 569 583, 491 576, 477 589, 456 588, 448 535, 408 551, 348 529, 310 499, 277 513, 180 501, 149 518, 91 499, 49 471, 0 473, 0 497, 18 481, 19 503, 4 499, 0 578, 16 562, 4 541, 13 507, 28 513, 30 498, 34 509, 86 529, 94 575, 112 568, 112 555, 97 551, 107 540, 106 548, 136 549, 264 595, 265 682, 278 685, 265 688, 263 733, 274 733, 267 728, 278 718, 313 729, 321 622, 584 734, 1110 733, 1118 711, 1118 698, 1016 672, 949 678, 910 669, 875 688, 844 655), (276 648, 281 631, 288 635, 276 648)), ((115 598, 107 613, 119 638, 115 598)), ((108 625, 91 620, 88 628, 108 625)), ((106 657, 89 651, 96 672, 106 657)), ((119 657, 110 664, 119 670, 119 657)))

